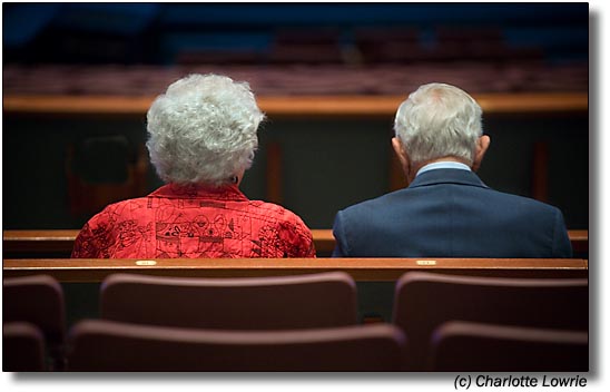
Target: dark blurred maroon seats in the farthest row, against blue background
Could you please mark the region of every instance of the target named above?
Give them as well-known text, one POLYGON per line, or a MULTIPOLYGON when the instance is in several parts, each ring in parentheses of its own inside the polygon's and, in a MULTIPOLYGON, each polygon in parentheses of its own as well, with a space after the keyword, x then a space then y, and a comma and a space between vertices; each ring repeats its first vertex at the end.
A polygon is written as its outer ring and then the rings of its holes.
MULTIPOLYGON (((208 36, 214 39, 214 35, 208 36)), ((217 38, 222 38, 222 33, 217 38)), ((500 29, 440 27, 422 39, 415 28, 356 28, 353 37, 338 29, 278 30, 258 50, 181 48, 178 63, 410 63, 426 61, 543 61, 538 47, 513 47, 500 29), (352 38, 352 39, 346 39, 352 38), (430 39, 434 38, 434 39, 430 39)))

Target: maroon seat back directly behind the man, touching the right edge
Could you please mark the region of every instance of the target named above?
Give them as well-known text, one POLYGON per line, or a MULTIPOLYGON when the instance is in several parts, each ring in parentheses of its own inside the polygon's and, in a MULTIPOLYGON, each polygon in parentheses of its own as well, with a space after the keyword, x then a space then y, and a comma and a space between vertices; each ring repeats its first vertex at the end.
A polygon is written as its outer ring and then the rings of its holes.
POLYGON ((452 320, 587 331, 588 281, 411 272, 396 282, 393 322, 411 341, 407 369, 425 367, 432 332, 452 320))

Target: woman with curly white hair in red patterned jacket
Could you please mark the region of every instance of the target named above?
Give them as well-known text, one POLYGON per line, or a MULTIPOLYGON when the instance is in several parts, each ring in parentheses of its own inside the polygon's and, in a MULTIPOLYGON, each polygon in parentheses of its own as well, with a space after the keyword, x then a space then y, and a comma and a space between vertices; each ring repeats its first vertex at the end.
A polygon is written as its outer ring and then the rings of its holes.
POLYGON ((72 257, 315 257, 298 216, 238 188, 264 117, 247 82, 190 75, 170 85, 147 116, 150 160, 167 184, 94 216, 72 257))

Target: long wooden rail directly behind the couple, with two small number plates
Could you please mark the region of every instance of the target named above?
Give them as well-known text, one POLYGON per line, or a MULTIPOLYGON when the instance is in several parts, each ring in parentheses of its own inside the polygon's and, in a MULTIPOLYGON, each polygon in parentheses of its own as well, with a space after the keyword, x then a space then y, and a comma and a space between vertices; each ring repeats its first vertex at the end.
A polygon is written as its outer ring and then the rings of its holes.
POLYGON ((356 281, 395 281, 409 271, 503 277, 587 277, 582 258, 19 258, 3 276, 48 274, 59 282, 101 282, 114 273, 248 277, 344 271, 356 281))

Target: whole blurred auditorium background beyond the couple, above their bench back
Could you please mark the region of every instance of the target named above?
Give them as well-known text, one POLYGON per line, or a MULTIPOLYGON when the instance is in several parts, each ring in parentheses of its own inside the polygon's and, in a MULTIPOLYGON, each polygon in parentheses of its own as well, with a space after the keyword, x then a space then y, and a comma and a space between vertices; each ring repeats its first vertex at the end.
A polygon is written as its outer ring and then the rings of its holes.
POLYGON ((244 183, 312 228, 404 186, 390 139, 417 86, 480 100, 502 192, 588 228, 588 3, 2 3, 4 228, 79 228, 161 183, 154 97, 190 72, 247 80, 267 114, 244 183))

